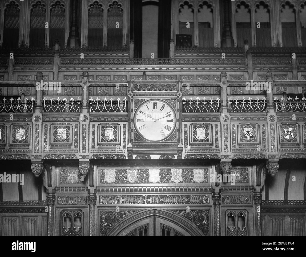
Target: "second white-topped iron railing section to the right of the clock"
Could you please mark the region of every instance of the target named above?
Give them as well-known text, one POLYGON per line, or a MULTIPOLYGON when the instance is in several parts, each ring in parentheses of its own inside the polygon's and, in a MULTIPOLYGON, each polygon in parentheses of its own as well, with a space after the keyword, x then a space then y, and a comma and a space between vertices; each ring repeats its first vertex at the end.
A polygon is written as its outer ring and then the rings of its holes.
POLYGON ((265 112, 267 105, 267 98, 262 98, 261 100, 256 97, 255 100, 248 98, 243 99, 230 99, 230 111, 231 112, 265 112))

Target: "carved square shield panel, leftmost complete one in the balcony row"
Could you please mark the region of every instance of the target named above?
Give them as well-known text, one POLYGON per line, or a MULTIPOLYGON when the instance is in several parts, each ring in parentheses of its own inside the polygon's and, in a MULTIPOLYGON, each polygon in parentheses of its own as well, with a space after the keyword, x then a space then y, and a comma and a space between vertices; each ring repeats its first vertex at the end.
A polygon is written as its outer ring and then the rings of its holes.
POLYGON ((13 147, 28 147, 30 145, 31 127, 28 124, 13 124, 11 126, 10 145, 13 147))

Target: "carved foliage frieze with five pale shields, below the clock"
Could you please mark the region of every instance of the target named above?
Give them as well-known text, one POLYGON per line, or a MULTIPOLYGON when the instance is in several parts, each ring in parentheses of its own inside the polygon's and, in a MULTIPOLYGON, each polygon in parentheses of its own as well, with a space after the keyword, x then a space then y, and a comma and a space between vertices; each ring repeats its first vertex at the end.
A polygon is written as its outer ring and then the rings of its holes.
POLYGON ((208 183, 208 169, 101 169, 100 183, 208 183))

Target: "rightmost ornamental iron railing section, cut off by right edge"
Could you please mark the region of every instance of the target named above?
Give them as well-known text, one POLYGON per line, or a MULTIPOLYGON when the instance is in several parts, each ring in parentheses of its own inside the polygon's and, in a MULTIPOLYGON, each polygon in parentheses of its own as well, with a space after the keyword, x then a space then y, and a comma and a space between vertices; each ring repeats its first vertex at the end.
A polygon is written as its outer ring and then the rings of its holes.
POLYGON ((274 97, 275 108, 277 112, 305 112, 305 100, 306 98, 304 96, 301 101, 299 101, 297 96, 294 99, 289 97, 287 98, 287 101, 285 101, 284 97, 282 97, 280 100, 274 97))

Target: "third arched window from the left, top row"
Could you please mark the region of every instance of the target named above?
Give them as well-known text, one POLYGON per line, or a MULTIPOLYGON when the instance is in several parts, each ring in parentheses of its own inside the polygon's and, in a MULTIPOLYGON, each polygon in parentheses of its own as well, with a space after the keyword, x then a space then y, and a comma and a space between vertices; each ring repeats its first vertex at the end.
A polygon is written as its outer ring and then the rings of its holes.
POLYGON ((65 46, 65 6, 61 1, 55 1, 50 9, 49 46, 52 47, 56 40, 60 47, 65 46))

